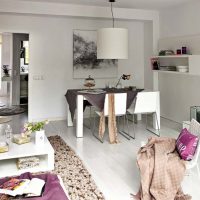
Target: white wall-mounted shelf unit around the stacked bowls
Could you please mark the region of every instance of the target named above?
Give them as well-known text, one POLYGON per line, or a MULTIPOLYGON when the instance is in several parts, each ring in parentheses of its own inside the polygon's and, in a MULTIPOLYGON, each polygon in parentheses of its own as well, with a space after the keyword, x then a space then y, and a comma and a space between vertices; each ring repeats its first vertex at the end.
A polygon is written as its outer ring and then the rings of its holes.
POLYGON ((188 66, 188 72, 154 70, 158 73, 185 74, 185 75, 200 75, 200 55, 170 55, 170 56, 154 56, 152 59, 157 59, 160 66, 188 66))

